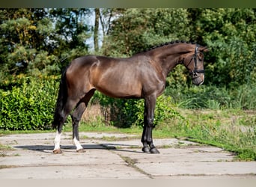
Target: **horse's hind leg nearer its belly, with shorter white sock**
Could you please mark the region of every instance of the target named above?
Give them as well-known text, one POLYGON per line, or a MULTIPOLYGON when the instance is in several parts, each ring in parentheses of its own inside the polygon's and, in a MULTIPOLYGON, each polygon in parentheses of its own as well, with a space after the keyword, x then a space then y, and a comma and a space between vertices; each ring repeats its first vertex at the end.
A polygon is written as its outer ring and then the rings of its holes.
POLYGON ((78 153, 85 152, 84 148, 79 143, 79 122, 81 120, 82 114, 85 111, 85 108, 88 105, 88 102, 91 99, 91 96, 94 95, 94 91, 95 90, 91 90, 87 94, 85 94, 85 97, 81 99, 79 104, 76 106, 76 109, 73 111, 73 114, 71 114, 73 125, 73 143, 76 145, 76 152, 78 153))

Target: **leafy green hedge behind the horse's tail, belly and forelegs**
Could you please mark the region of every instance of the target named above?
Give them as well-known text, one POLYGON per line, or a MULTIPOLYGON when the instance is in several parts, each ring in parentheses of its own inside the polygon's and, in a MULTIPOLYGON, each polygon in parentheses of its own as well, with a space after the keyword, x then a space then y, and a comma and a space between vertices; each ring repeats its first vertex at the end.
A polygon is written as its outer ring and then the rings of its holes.
MULTIPOLYGON (((58 92, 58 79, 54 77, 27 77, 12 80, 0 88, 1 130, 51 129, 58 92)), ((97 92, 93 102, 100 102, 103 123, 118 127, 143 125, 143 99, 113 99, 97 92)), ((160 96, 156 102, 154 123, 179 115, 171 105, 171 97, 160 96)))

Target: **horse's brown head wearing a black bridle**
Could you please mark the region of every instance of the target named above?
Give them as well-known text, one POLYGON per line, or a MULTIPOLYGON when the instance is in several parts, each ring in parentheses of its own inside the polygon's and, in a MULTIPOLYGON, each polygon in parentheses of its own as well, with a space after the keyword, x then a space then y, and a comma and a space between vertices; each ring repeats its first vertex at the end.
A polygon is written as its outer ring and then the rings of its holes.
POLYGON ((204 53, 207 47, 195 46, 195 51, 190 52, 183 59, 183 64, 189 70, 194 85, 202 85, 204 82, 204 53))

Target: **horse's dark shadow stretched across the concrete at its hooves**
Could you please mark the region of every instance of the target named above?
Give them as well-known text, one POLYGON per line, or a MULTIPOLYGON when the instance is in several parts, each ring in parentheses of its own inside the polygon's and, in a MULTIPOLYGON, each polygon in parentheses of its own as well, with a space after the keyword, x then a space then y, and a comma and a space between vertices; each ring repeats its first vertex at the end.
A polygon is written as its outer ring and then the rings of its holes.
MULTIPOLYGON (((115 150, 115 151, 140 153, 138 151, 130 149, 130 147, 133 147, 133 148, 137 148, 137 147, 129 144, 83 144, 82 147, 85 150, 115 150)), ((33 151, 38 151, 43 153, 52 153, 54 146, 52 145, 19 145, 19 146, 14 146, 13 148, 22 149, 22 150, 33 150, 33 151)), ((70 152, 70 150, 76 151, 76 147, 74 145, 61 145, 61 150, 62 152, 70 152)))

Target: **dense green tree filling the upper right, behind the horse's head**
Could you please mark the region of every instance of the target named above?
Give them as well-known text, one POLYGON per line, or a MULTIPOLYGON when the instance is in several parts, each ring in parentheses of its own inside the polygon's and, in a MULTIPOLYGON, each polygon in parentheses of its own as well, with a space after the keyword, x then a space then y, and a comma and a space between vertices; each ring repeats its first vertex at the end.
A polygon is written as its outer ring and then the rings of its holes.
POLYGON ((254 9, 193 10, 200 40, 210 47, 207 80, 213 85, 243 85, 255 75, 256 16, 254 9))

